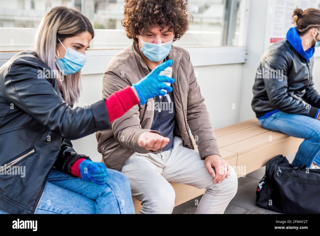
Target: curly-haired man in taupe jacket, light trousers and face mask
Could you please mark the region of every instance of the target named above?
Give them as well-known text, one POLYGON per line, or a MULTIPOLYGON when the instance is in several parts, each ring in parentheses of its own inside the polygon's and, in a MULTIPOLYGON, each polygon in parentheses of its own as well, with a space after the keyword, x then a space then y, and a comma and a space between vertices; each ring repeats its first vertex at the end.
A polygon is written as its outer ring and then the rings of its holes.
POLYGON ((189 54, 172 46, 188 30, 192 16, 186 7, 183 0, 125 0, 122 24, 133 43, 111 60, 103 78, 103 96, 109 97, 163 61, 173 61, 170 97, 136 105, 112 122, 112 131, 96 134, 107 167, 129 177, 140 213, 172 213, 175 192, 169 181, 206 189, 199 214, 224 213, 237 190, 236 173, 220 156, 189 54))

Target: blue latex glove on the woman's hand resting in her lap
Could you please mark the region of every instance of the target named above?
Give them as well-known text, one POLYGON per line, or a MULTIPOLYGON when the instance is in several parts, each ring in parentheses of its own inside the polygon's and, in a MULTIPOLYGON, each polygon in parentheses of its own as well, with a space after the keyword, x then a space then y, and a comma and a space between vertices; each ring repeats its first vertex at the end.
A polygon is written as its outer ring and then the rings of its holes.
POLYGON ((79 164, 79 171, 84 181, 92 181, 97 184, 104 184, 107 180, 107 168, 101 162, 83 160, 79 164))

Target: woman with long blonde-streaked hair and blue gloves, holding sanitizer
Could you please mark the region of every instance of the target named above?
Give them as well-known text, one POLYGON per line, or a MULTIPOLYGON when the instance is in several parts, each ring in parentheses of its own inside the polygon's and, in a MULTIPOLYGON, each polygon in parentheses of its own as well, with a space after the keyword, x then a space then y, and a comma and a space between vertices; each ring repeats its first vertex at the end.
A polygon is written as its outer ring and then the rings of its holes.
POLYGON ((93 36, 83 14, 52 8, 34 50, 0 68, 0 213, 134 213, 127 177, 77 154, 69 140, 109 129, 132 106, 171 91, 165 82, 174 80, 159 73, 172 61, 108 99, 72 109, 93 36))

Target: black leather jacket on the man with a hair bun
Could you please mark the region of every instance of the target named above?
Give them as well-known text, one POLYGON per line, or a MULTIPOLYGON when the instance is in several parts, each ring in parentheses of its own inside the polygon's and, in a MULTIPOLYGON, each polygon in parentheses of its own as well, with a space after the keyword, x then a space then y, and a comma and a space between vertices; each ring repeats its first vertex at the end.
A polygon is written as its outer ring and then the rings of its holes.
POLYGON ((313 87, 312 67, 313 57, 307 62, 286 39, 270 46, 260 59, 252 89, 256 116, 277 109, 315 118, 320 96, 313 87))

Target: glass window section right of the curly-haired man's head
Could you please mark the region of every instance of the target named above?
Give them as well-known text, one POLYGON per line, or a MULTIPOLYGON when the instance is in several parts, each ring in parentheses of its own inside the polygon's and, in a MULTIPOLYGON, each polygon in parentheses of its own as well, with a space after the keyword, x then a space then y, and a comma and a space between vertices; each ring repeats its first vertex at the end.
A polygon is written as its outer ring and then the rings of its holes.
POLYGON ((193 15, 186 35, 176 45, 239 45, 241 0, 188 0, 188 13, 193 15))

